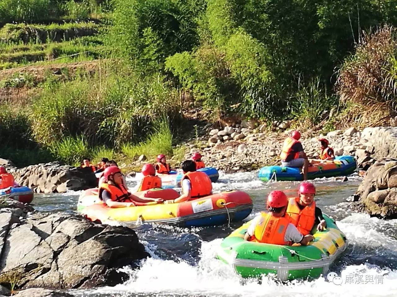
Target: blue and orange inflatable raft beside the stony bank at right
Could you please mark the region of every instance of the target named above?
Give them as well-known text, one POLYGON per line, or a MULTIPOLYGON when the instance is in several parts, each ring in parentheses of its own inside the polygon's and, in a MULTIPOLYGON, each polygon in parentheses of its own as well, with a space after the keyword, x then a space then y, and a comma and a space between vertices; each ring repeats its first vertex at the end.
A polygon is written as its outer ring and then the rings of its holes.
MULTIPOLYGON (((349 175, 356 169, 356 160, 353 156, 339 156, 333 161, 325 162, 311 160, 310 164, 307 174, 308 179, 349 175)), ((302 168, 298 167, 266 166, 259 170, 258 177, 261 181, 271 179, 276 181, 303 180, 302 168)))

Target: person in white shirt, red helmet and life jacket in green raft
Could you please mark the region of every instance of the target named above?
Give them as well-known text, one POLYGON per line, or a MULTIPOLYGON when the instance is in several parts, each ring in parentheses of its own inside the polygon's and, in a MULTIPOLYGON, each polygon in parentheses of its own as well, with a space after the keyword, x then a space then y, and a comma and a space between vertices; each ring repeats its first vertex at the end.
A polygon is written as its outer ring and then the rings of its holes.
POLYGON ((282 191, 272 191, 268 195, 266 206, 268 213, 263 212, 252 220, 244 239, 264 244, 289 246, 299 243, 306 246, 313 240, 311 234, 303 235, 285 216, 288 199, 282 191))

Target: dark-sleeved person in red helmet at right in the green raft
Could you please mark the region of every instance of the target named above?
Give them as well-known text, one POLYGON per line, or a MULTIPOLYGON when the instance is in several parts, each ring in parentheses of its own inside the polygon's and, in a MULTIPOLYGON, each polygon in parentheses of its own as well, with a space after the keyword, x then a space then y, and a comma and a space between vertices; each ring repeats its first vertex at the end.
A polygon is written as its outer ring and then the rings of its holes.
POLYGON ((287 215, 303 235, 310 234, 315 225, 320 231, 327 227, 321 209, 314 202, 315 195, 316 187, 312 183, 303 182, 299 185, 298 197, 288 199, 287 215))

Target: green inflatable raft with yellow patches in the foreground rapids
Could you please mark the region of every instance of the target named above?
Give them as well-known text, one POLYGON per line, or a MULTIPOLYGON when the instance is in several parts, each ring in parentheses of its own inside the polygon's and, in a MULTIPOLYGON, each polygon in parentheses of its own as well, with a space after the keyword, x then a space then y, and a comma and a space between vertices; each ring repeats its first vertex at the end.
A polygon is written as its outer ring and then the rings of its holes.
POLYGON ((312 230, 308 246, 279 246, 244 240, 252 221, 227 236, 218 249, 218 259, 231 265, 245 278, 274 274, 279 280, 318 278, 326 275, 331 263, 346 249, 347 239, 335 221, 324 214, 326 230, 312 230))

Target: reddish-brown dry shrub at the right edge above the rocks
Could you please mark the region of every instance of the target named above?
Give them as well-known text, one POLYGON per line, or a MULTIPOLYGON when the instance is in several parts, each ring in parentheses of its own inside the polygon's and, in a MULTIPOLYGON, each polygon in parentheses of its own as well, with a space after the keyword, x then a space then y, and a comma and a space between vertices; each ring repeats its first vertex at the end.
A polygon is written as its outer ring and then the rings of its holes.
POLYGON ((396 29, 384 26, 372 34, 363 34, 356 53, 338 72, 336 89, 341 101, 395 103, 396 51, 396 29))

